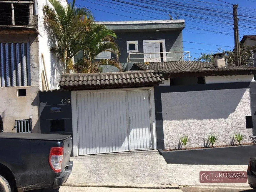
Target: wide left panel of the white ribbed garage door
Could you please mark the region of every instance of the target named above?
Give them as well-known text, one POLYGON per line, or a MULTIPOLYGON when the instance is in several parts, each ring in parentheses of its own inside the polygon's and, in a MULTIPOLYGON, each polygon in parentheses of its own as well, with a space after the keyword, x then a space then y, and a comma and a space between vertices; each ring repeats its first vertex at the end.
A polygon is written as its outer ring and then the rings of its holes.
POLYGON ((124 101, 122 92, 77 94, 79 155, 128 150, 124 101))

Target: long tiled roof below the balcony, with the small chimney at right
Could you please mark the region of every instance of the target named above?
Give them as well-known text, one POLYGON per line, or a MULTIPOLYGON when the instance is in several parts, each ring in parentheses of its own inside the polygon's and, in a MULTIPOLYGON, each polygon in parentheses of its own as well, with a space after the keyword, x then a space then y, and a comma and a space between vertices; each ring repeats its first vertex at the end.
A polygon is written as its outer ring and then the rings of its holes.
POLYGON ((144 63, 134 63, 144 70, 154 70, 156 73, 176 74, 187 72, 215 72, 215 71, 249 71, 256 70, 253 66, 235 66, 227 65, 226 67, 214 67, 213 63, 200 61, 168 61, 168 62, 150 62, 148 65, 144 63))

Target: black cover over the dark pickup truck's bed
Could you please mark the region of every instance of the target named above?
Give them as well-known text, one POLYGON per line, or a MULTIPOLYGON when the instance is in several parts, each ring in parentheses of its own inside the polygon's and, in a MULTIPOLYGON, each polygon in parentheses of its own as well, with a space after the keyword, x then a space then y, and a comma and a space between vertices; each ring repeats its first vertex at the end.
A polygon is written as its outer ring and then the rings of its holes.
POLYGON ((63 141, 71 135, 59 135, 59 134, 41 134, 41 133, 0 133, 0 138, 16 138, 16 139, 35 139, 46 141, 63 141))

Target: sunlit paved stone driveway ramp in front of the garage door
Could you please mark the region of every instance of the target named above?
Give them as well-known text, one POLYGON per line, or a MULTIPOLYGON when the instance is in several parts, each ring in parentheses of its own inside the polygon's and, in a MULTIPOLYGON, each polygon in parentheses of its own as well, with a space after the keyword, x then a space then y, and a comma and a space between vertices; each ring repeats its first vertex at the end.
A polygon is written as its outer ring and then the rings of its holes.
POLYGON ((147 187, 176 184, 164 158, 154 150, 87 155, 71 160, 74 166, 65 186, 147 187))

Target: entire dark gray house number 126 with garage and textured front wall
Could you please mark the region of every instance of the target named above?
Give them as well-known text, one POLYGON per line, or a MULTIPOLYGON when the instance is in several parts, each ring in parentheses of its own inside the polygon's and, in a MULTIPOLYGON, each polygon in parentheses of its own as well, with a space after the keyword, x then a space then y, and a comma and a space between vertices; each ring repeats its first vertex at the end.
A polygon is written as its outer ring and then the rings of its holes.
POLYGON ((174 149, 182 136, 187 147, 207 146, 210 134, 216 145, 234 133, 249 142, 256 133, 256 68, 226 66, 222 53, 213 64, 189 61, 184 20, 97 23, 117 33, 125 71, 63 74, 60 90, 39 93, 41 132, 72 134, 74 156, 174 149))

